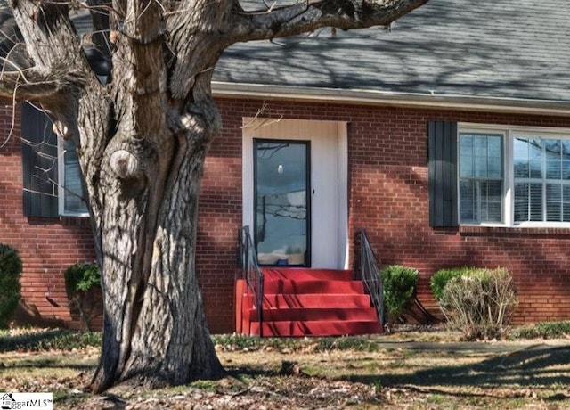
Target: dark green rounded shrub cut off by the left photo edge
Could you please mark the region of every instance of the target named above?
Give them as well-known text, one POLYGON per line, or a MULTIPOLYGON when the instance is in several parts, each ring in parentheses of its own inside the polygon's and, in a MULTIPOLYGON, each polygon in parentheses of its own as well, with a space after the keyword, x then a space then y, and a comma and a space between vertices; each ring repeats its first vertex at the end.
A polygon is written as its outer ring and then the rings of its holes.
POLYGON ((0 244, 0 327, 6 327, 20 301, 20 275, 18 250, 0 244))

